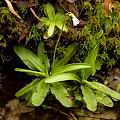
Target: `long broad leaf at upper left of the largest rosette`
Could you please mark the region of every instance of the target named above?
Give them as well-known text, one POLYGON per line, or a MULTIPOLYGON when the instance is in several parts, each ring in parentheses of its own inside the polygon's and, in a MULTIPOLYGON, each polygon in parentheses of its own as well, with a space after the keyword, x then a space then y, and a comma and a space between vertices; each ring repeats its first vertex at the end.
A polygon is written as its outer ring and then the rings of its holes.
POLYGON ((30 69, 45 72, 45 66, 33 52, 23 46, 15 46, 14 51, 30 69))

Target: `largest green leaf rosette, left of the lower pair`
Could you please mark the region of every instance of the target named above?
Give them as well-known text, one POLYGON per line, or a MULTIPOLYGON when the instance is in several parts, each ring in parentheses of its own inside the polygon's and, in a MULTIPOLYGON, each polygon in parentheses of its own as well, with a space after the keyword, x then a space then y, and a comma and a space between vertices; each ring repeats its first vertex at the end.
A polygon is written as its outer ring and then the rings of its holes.
POLYGON ((76 44, 71 44, 66 48, 67 54, 57 61, 54 67, 50 65, 48 56, 45 54, 43 42, 38 45, 37 55, 23 46, 15 46, 14 51, 29 67, 29 69, 16 68, 15 70, 36 75, 36 79, 15 94, 17 97, 25 97, 28 105, 39 106, 51 92, 62 105, 72 107, 73 101, 68 97, 70 93, 60 81, 76 80, 80 82, 75 71, 91 67, 87 63, 65 65, 74 55, 76 44))

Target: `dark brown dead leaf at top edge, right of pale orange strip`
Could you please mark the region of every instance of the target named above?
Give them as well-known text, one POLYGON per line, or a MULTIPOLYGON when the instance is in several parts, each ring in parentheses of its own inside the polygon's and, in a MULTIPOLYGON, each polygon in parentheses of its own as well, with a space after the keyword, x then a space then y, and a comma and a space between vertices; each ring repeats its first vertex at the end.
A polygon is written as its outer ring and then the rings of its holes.
POLYGON ((21 0, 14 1, 14 3, 16 4, 16 6, 17 6, 18 8, 21 8, 21 7, 29 8, 29 7, 36 6, 36 5, 37 5, 36 3, 31 3, 31 2, 29 2, 29 1, 21 1, 21 0))

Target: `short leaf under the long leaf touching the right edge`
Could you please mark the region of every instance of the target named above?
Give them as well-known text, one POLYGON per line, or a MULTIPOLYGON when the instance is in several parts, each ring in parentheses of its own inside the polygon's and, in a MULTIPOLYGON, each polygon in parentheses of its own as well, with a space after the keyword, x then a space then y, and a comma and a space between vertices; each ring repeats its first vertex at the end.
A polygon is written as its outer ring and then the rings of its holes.
POLYGON ((108 106, 108 107, 113 107, 112 100, 107 95, 105 95, 103 92, 95 90, 94 93, 95 93, 97 102, 102 103, 103 105, 108 106))

